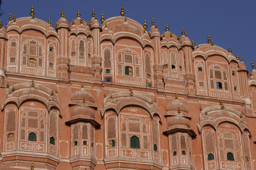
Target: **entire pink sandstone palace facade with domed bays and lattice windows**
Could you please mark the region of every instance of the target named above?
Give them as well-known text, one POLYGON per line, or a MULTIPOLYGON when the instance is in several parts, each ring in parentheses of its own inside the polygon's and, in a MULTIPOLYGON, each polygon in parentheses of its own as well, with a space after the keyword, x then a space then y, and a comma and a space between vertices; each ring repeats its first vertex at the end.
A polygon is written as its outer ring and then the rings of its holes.
POLYGON ((254 66, 92 16, 1 24, 1 169, 256 169, 254 66))

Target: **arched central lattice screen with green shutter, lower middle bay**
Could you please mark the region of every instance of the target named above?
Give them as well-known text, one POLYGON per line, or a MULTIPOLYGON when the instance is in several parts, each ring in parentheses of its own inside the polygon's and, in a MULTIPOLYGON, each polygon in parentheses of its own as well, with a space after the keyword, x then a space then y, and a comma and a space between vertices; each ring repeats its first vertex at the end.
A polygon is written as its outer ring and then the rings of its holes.
POLYGON ((133 116, 121 120, 122 147, 149 149, 148 133, 148 123, 143 118, 133 116))

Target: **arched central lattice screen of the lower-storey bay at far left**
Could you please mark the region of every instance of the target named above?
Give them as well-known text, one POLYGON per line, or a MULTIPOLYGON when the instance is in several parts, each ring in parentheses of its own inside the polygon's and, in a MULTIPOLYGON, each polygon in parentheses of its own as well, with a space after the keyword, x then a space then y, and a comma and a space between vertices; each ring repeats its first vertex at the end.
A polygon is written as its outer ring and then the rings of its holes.
MULTIPOLYGON (((34 43, 34 42, 33 42, 34 43)), ((21 140, 28 141, 29 134, 32 134, 30 141, 45 142, 46 135, 46 111, 27 110, 21 113, 21 140), (33 133, 31 133, 33 132, 33 133), (34 137, 35 136, 35 137, 34 137)))

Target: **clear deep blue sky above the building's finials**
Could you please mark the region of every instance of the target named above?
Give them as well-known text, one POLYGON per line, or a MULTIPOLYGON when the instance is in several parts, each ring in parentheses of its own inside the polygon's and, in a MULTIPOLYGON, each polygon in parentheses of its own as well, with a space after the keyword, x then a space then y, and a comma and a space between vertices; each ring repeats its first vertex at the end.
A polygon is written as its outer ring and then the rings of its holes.
MULTIPOLYGON (((101 13, 105 19, 120 16, 123 5, 128 18, 143 24, 147 19, 148 26, 152 17, 157 23, 160 33, 165 32, 168 23, 169 31, 181 35, 182 27, 187 31, 190 40, 195 44, 207 42, 210 35, 215 45, 228 50, 228 45, 235 55, 243 56, 249 72, 252 71, 251 62, 256 64, 256 1, 228 1, 228 0, 2 0, 0 18, 4 26, 9 20, 9 13, 15 13, 16 18, 29 16, 31 5, 35 8, 35 17, 48 21, 50 17, 54 23, 60 18, 62 9, 65 11, 67 21, 77 17, 80 11, 83 19, 91 19, 91 10, 95 9, 100 20, 101 13)), ((148 27, 149 30, 149 27, 148 27)))

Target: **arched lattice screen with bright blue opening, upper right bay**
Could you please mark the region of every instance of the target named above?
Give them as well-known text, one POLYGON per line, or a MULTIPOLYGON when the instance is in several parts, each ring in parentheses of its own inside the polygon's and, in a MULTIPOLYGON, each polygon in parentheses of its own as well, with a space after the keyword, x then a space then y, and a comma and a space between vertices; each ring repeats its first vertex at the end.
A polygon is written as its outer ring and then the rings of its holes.
POLYGON ((221 65, 211 65, 209 67, 209 81, 212 90, 228 91, 228 77, 226 69, 221 65))

